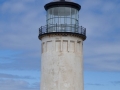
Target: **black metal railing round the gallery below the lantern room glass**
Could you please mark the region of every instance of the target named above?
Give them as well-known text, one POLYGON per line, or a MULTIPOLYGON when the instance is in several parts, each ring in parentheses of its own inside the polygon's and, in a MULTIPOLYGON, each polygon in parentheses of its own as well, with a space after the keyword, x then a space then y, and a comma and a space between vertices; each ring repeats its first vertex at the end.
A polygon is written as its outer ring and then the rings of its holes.
POLYGON ((39 35, 52 33, 52 32, 71 32, 71 33, 77 33, 77 34, 82 34, 86 36, 86 28, 82 26, 68 25, 68 24, 59 24, 59 25, 55 24, 55 25, 41 26, 39 28, 39 35))

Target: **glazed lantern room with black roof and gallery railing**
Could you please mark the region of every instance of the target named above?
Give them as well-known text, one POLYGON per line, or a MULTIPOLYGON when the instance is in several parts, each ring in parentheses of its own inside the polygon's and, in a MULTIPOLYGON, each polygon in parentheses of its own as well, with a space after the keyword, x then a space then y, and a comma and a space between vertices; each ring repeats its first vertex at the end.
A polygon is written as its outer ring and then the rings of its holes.
POLYGON ((86 28, 79 26, 79 10, 77 3, 56 0, 44 6, 46 10, 46 25, 39 28, 41 35, 46 33, 76 33, 86 38, 86 28))

